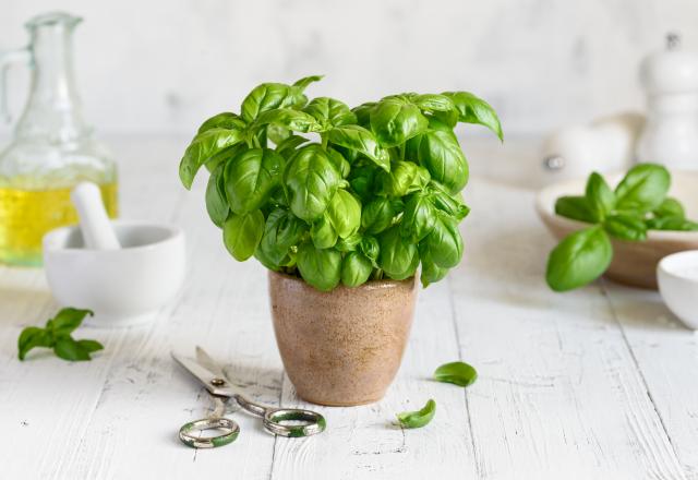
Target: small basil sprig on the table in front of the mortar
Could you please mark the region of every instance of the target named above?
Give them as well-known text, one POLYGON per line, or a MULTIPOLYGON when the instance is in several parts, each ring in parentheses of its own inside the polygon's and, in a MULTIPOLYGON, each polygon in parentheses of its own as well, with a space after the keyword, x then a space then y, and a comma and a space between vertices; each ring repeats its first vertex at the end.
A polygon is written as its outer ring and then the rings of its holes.
POLYGON ((80 326, 83 319, 92 315, 89 310, 65 308, 55 317, 46 322, 46 327, 27 326, 20 334, 17 340, 17 357, 24 360, 29 350, 36 347, 52 348, 53 353, 63 360, 92 360, 91 353, 104 347, 96 340, 75 340, 72 333, 80 326))

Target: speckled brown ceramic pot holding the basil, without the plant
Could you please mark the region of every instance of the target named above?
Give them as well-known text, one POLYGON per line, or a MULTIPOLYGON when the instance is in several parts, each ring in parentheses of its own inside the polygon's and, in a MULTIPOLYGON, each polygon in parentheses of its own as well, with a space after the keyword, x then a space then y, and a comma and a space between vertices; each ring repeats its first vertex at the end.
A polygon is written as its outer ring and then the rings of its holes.
POLYGON ((281 360, 301 398, 329 406, 383 398, 412 324, 413 277, 323 292, 269 272, 269 298, 281 360))

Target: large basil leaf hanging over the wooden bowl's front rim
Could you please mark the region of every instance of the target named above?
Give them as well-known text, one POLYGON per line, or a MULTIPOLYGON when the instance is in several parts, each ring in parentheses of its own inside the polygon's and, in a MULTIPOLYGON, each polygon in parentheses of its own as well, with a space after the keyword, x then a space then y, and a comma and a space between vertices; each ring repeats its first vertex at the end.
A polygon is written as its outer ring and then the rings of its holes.
POLYGON ((613 247, 599 225, 567 236, 547 257, 545 280, 555 291, 581 287, 609 268, 613 247))

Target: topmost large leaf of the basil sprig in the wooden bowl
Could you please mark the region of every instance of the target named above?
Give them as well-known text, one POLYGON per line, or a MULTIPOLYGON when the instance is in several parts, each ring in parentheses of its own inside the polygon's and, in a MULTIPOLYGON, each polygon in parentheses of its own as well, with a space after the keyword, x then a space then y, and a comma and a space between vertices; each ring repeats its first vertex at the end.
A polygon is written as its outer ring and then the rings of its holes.
POLYGON ((615 189, 616 208, 639 213, 651 212, 662 204, 671 176, 661 165, 638 164, 628 170, 615 189))

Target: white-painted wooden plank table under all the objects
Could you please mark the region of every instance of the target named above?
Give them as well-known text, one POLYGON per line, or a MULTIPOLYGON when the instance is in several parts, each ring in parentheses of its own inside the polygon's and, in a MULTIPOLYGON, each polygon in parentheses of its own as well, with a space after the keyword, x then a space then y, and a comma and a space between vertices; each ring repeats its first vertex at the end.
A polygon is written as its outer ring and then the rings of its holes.
POLYGON ((256 400, 305 405, 284 375, 264 268, 227 254, 205 213, 203 178, 191 193, 178 183, 185 142, 112 141, 123 216, 177 223, 188 235, 185 286, 155 323, 81 328, 106 347, 91 362, 37 351, 20 362, 21 329, 57 307, 43 271, 0 267, 0 478, 698 479, 696 336, 655 292, 606 281, 566 295, 546 288, 553 240, 532 191, 483 179, 488 165, 502 169, 500 157, 516 157, 516 145, 471 154, 466 259, 447 281, 420 291, 383 401, 313 406, 327 431, 300 440, 274 437, 237 413, 234 444, 183 446, 177 429, 209 405, 170 360, 172 349, 203 345, 256 400), (474 385, 430 380, 457 359, 477 367, 474 385), (426 428, 393 424, 429 398, 437 411, 426 428))

